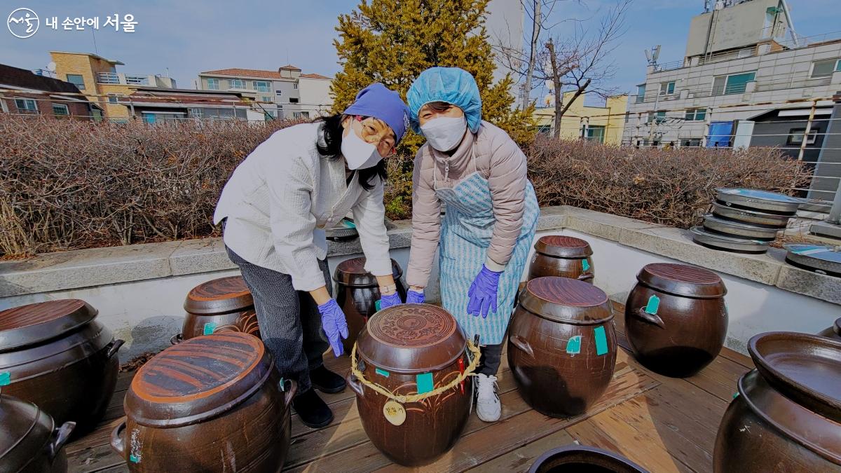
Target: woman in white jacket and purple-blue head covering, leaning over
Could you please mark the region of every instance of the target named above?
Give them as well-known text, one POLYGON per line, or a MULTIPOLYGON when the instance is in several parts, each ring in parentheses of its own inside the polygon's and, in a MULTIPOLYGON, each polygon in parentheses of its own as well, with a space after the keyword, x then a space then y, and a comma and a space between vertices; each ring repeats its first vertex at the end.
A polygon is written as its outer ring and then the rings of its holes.
POLYGON ((347 337, 331 298, 325 228, 352 212, 381 306, 401 303, 384 223, 383 157, 394 154, 408 123, 399 95, 374 83, 343 114, 272 134, 235 169, 216 206, 214 224, 225 222, 225 247, 254 296, 263 343, 280 374, 298 382, 293 407, 309 427, 333 418, 311 387, 345 388, 321 356, 328 346, 341 355, 347 337))

